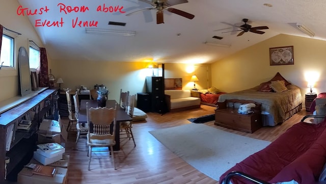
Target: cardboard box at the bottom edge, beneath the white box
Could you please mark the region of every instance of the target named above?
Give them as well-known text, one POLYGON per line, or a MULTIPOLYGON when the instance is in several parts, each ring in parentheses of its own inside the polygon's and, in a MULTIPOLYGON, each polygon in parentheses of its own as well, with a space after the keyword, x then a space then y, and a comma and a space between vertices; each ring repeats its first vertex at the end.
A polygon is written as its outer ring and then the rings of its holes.
POLYGON ((57 167, 55 176, 42 176, 32 173, 32 169, 24 167, 17 176, 17 182, 21 184, 66 184, 68 169, 57 167))

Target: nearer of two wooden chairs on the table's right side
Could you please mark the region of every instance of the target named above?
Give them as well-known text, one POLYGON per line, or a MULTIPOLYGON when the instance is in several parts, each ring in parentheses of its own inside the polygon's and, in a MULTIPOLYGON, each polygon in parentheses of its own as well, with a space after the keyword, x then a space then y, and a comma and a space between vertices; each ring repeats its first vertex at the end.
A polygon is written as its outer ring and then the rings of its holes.
MULTIPOLYGON (((131 118, 133 117, 134 103, 135 103, 135 95, 129 95, 127 113, 131 118)), ((120 139, 126 138, 130 140, 130 138, 132 138, 133 144, 134 146, 136 146, 131 128, 132 128, 132 120, 120 122, 120 139)))

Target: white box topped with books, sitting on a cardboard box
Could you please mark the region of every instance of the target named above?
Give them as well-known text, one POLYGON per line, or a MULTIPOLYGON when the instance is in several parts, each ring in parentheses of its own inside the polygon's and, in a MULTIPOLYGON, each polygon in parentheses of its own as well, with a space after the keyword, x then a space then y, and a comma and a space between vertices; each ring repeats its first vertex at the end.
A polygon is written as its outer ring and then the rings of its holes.
POLYGON ((58 143, 38 144, 34 151, 34 159, 44 166, 55 163, 63 158, 65 148, 58 143))

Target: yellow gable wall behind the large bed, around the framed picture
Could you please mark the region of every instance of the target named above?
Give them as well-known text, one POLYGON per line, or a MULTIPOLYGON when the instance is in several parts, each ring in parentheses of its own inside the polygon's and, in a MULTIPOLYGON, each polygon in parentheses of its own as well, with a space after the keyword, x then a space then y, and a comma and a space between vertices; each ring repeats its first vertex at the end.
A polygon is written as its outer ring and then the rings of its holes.
POLYGON ((277 72, 290 83, 309 91, 309 76, 316 78, 314 92, 326 91, 326 41, 278 35, 211 64, 212 86, 224 92, 243 90, 270 80, 277 72), (294 65, 270 66, 269 48, 293 45, 294 65))

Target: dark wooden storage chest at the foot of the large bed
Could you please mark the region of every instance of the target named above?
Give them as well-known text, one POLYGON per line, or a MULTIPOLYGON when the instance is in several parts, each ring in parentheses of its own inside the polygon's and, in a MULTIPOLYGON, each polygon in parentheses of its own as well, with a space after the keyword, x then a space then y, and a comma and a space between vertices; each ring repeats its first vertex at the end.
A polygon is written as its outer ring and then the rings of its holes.
POLYGON ((253 100, 227 99, 218 102, 215 110, 215 125, 223 126, 242 132, 253 133, 262 127, 261 123, 261 104, 253 100), (251 114, 239 114, 240 104, 255 103, 256 107, 251 108, 251 114))

